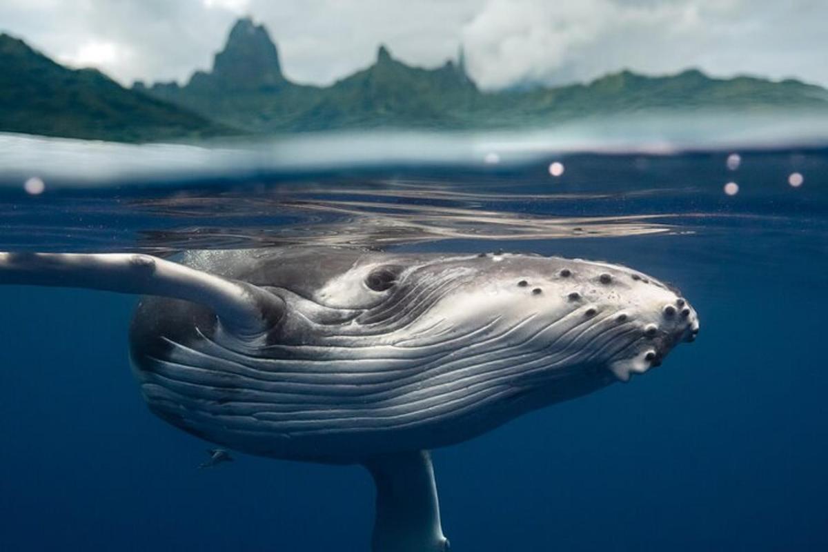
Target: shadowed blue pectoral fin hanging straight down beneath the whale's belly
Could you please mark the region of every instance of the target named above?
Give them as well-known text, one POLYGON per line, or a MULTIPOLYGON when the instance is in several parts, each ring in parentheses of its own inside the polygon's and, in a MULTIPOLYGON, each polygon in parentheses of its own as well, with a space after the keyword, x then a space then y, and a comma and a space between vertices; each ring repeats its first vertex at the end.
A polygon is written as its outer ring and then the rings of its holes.
POLYGON ((449 550, 428 451, 388 454, 364 465, 377 487, 373 552, 449 550))

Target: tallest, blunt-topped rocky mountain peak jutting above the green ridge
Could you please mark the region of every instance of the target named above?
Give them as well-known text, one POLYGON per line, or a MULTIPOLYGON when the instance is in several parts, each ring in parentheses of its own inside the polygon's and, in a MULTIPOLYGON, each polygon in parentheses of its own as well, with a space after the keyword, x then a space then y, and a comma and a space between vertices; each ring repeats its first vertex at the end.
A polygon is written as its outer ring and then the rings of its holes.
MULTIPOLYGON (((267 89, 285 83, 279 53, 267 29, 243 17, 233 25, 213 71, 200 74, 194 84, 222 89, 267 89)), ((192 81, 191 81, 192 82, 192 81)))

